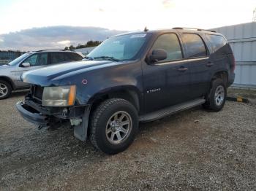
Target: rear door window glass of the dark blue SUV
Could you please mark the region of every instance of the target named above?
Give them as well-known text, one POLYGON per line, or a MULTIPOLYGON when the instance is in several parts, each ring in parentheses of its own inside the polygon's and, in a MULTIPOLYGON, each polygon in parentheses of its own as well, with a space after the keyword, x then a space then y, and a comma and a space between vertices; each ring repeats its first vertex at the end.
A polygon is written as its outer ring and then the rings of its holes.
POLYGON ((189 58, 197 58, 207 55, 203 39, 197 34, 182 34, 182 40, 187 47, 189 58))

